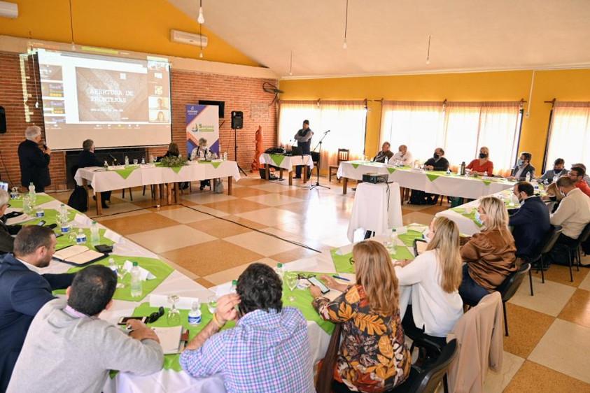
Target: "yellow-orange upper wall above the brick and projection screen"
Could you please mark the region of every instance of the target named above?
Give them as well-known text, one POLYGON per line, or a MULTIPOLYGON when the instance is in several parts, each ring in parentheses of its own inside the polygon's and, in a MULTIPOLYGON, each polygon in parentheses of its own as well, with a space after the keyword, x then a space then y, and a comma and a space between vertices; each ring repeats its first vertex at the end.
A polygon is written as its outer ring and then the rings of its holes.
MULTIPOLYGON (((16 19, 0 17, 0 35, 71 42, 69 0, 10 0, 16 19)), ((170 41, 170 30, 199 33, 199 24, 166 0, 72 0, 74 40, 158 55, 199 59, 199 48, 170 41)), ((206 12, 206 8, 205 12, 206 12)), ((209 37, 204 60, 260 66, 203 25, 209 37)))

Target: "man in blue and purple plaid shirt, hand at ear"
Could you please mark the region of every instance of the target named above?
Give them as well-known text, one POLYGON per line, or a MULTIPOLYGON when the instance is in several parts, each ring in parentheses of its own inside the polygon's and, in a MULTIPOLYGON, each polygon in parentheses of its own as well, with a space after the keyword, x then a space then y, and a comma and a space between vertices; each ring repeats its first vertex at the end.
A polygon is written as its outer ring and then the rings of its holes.
POLYGON ((282 292, 271 267, 248 266, 237 294, 219 299, 213 320, 187 345, 182 368, 196 378, 221 373, 228 393, 315 392, 307 322, 297 308, 283 308, 282 292))

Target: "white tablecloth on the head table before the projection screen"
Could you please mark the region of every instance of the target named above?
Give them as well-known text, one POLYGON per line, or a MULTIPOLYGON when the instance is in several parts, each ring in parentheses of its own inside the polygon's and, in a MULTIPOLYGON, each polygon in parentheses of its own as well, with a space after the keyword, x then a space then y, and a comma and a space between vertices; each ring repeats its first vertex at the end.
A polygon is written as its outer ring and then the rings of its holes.
POLYGON ((235 161, 190 162, 190 164, 183 166, 178 173, 171 168, 146 164, 140 165, 127 178, 123 178, 114 170, 105 171, 99 167, 88 167, 78 169, 74 180, 78 185, 82 185, 82 180, 85 179, 92 185, 94 192, 104 192, 143 185, 197 181, 228 176, 233 176, 236 181, 240 179, 235 161))

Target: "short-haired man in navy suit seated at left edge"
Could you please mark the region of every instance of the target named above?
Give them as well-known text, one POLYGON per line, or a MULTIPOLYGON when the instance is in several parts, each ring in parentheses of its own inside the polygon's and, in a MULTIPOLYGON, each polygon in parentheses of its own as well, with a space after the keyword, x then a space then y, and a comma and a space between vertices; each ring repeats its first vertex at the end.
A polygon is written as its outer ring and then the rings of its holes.
POLYGON ((37 311, 55 299, 52 290, 69 287, 73 274, 43 274, 55 252, 55 234, 48 227, 23 227, 14 241, 14 254, 0 259, 0 392, 10 374, 37 311))

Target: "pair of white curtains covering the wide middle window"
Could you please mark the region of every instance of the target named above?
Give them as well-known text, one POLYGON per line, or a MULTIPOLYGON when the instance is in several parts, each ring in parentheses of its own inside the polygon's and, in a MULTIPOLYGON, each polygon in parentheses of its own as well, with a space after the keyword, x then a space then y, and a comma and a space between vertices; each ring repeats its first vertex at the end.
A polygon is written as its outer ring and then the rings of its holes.
POLYGON ((381 142, 408 146, 424 162, 435 148, 456 168, 477 157, 479 148, 490 150, 496 174, 510 171, 517 155, 519 102, 384 102, 381 142))

